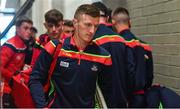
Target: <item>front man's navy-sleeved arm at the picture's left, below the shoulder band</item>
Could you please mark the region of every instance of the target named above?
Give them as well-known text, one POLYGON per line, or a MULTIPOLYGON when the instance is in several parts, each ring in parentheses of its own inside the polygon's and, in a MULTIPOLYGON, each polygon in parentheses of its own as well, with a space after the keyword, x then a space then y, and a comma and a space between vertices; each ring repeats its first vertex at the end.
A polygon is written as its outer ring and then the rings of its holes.
POLYGON ((30 75, 29 88, 36 107, 47 105, 43 85, 47 82, 51 61, 52 55, 42 50, 30 75))

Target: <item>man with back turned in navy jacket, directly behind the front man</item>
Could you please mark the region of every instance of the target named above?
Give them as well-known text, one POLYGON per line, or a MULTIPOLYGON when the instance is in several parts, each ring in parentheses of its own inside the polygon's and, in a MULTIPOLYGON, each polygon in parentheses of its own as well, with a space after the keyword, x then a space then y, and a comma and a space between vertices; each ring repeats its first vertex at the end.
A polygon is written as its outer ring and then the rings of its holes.
MULTIPOLYGON (((93 3, 99 8, 100 14, 106 13, 106 6, 100 2, 93 3), (104 6, 102 6, 104 5, 104 6)), ((106 14, 105 14, 106 15, 106 14)), ((109 29, 106 25, 107 16, 101 16, 100 25, 94 36, 94 41, 105 48, 112 57, 112 94, 110 107, 125 108, 128 106, 127 97, 134 84, 134 59, 132 50, 125 45, 125 40, 109 29)))

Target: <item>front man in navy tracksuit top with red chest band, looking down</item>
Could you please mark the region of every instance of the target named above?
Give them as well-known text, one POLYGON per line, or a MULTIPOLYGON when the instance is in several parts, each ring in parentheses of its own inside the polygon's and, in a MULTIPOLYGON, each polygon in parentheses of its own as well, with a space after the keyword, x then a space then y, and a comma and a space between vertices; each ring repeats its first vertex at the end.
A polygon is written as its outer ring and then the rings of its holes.
MULTIPOLYGON (((99 11, 81 5, 75 12, 75 33, 66 38, 57 59, 51 83, 53 99, 49 107, 94 107, 96 81, 108 103, 111 93, 111 56, 92 42, 99 24, 99 11)), ((47 107, 42 86, 47 81, 52 54, 58 41, 51 41, 41 52, 30 76, 29 87, 36 107, 47 107)))

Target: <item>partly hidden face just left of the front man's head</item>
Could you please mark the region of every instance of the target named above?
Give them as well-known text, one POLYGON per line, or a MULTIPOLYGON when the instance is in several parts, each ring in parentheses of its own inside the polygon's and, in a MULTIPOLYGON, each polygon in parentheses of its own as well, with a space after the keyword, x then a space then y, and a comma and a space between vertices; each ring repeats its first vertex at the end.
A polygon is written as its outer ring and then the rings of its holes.
POLYGON ((74 27, 63 25, 63 33, 66 36, 72 36, 74 33, 74 27))

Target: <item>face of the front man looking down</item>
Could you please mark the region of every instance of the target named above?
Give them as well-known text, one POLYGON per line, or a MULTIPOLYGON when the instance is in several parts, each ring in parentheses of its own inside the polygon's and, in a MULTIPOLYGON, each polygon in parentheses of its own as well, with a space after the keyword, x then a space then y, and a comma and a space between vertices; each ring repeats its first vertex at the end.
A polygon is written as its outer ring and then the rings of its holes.
POLYGON ((78 19, 74 20, 75 34, 78 35, 80 40, 89 43, 93 39, 98 24, 99 17, 91 17, 87 14, 82 14, 78 19))

